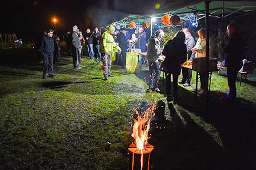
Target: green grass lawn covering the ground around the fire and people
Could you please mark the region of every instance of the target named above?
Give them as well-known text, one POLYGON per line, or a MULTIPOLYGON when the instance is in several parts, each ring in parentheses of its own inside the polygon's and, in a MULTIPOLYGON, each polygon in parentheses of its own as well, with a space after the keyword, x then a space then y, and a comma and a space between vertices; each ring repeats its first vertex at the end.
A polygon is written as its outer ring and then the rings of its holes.
POLYGON ((131 168, 131 116, 144 101, 160 106, 152 169, 255 168, 255 73, 246 86, 237 83, 235 103, 224 100, 225 71, 214 73, 207 115, 192 87, 179 86, 178 105, 167 103, 162 82, 161 94, 146 93, 147 68, 125 75, 113 65, 115 77, 104 81, 99 64, 85 59, 73 70, 72 58, 62 57, 57 76, 43 80, 31 47, 0 52, 0 169, 131 168))

